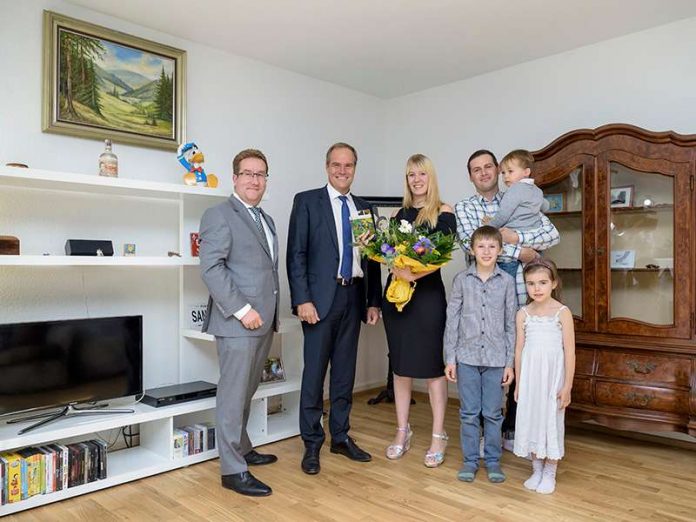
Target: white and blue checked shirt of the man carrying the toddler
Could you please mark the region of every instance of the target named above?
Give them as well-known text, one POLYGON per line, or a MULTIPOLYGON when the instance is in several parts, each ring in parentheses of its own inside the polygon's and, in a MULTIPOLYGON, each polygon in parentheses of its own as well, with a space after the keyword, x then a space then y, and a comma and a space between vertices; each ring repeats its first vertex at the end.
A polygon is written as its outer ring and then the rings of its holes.
MULTIPOLYGON (((477 193, 467 199, 463 199, 454 206, 454 214, 457 216, 457 236, 462 243, 462 250, 467 254, 471 265, 474 264, 473 256, 469 251, 471 235, 483 224, 482 220, 485 216, 493 216, 500 210, 500 199, 502 196, 503 193, 498 192, 493 199, 488 201, 481 194, 477 193)), ((503 252, 498 257, 499 261, 517 261, 520 257, 522 246, 530 247, 537 251, 546 250, 556 245, 561 239, 556 227, 548 217, 543 215, 539 229, 526 232, 517 231, 517 235, 519 236, 519 241, 516 245, 509 243, 503 245, 503 252)), ((522 263, 517 268, 515 283, 517 285, 518 304, 523 306, 527 301, 527 288, 522 276, 522 263)))

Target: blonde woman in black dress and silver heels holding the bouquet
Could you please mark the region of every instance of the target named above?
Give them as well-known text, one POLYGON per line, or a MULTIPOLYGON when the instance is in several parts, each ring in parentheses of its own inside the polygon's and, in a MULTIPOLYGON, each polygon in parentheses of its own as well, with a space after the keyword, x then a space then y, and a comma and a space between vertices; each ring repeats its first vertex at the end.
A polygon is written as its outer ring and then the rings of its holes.
MULTIPOLYGON (((415 154, 406 163, 404 201, 392 219, 406 220, 414 227, 430 232, 456 232, 452 207, 440 200, 435 168, 423 154, 415 154)), ((424 464, 434 468, 442 464, 447 447, 444 429, 447 405, 447 381, 442 358, 447 302, 440 270, 414 274, 394 268, 389 278, 418 281, 411 301, 399 312, 383 299, 382 315, 389 345, 389 360, 394 369, 396 436, 387 448, 387 458, 401 458, 411 446, 413 432, 408 422, 413 379, 427 379, 433 428, 424 464)), ((389 281, 387 282, 387 287, 389 281)))

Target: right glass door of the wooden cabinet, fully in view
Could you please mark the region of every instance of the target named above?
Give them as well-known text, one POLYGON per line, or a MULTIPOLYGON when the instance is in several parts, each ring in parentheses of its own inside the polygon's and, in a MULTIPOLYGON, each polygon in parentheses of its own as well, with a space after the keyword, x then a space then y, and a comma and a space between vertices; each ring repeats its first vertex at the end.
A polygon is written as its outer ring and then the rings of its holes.
POLYGON ((688 306, 678 306, 690 298, 687 166, 621 151, 598 159, 600 331, 688 337, 688 306))

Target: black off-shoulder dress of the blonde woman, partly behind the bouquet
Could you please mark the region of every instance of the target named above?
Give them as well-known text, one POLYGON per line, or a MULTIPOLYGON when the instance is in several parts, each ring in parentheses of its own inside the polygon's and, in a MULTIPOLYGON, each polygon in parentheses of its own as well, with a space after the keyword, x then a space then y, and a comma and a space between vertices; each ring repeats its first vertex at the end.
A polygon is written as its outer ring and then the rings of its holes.
MULTIPOLYGON (((413 223, 416 208, 402 208, 395 219, 413 223)), ((443 212, 431 231, 445 234, 457 229, 454 214, 443 212)), ((387 285, 391 282, 391 275, 387 285)), ((431 379, 445 374, 442 356, 442 337, 447 318, 447 299, 440 270, 421 277, 416 282, 411 301, 399 312, 393 303, 382 299, 382 318, 389 345, 389 361, 396 375, 431 379)))

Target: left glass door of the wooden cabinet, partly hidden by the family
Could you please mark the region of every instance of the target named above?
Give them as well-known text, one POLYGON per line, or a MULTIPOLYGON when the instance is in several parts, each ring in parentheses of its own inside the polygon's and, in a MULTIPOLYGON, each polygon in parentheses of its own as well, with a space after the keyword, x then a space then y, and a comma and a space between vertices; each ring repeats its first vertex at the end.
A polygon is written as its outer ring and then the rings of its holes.
POLYGON ((576 156, 537 180, 550 205, 546 217, 561 237, 543 256, 558 267, 561 301, 572 311, 576 328, 585 331, 595 325, 594 258, 585 239, 594 235, 592 167, 591 157, 576 156))

